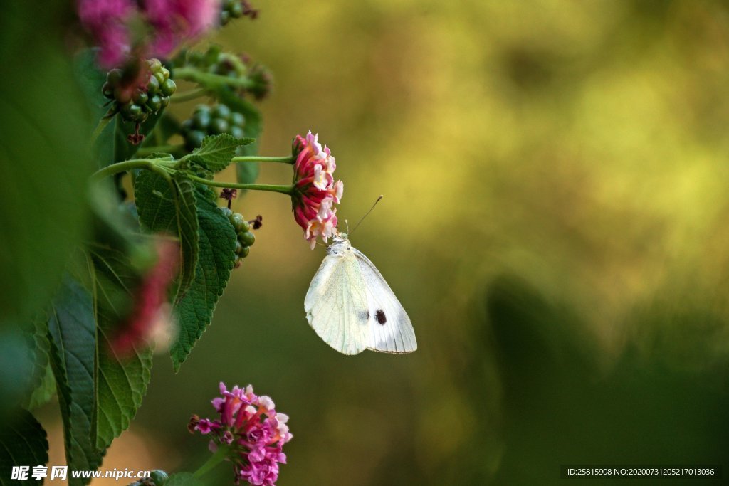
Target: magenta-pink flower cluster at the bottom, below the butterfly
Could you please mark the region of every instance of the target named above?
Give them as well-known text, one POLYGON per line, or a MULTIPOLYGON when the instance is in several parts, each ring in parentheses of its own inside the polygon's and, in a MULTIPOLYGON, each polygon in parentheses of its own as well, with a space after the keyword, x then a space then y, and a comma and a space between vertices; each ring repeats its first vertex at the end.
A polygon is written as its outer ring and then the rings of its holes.
POLYGON ((220 419, 192 415, 190 431, 210 435, 213 452, 227 447, 227 460, 233 463, 236 484, 243 479, 255 486, 274 485, 278 464, 286 463, 281 450, 293 437, 286 425, 289 417, 276 412, 270 397, 253 393, 251 385, 234 386, 228 391, 225 383, 220 383, 220 394, 222 397, 212 401, 220 419))

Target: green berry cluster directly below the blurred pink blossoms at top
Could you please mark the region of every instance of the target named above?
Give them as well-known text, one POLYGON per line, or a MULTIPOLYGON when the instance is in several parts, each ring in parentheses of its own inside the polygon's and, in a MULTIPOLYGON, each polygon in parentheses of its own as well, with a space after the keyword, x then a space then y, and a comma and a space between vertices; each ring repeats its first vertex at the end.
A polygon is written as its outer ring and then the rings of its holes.
POLYGON ((170 71, 162 66, 160 60, 148 59, 147 68, 149 78, 141 83, 137 79, 129 82, 128 75, 121 69, 112 69, 106 74, 106 82, 101 90, 114 103, 112 110, 121 114, 125 122, 146 121, 150 114, 170 104, 170 95, 177 88, 170 79, 170 71))

